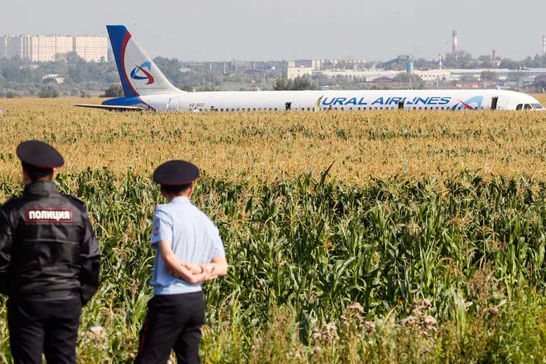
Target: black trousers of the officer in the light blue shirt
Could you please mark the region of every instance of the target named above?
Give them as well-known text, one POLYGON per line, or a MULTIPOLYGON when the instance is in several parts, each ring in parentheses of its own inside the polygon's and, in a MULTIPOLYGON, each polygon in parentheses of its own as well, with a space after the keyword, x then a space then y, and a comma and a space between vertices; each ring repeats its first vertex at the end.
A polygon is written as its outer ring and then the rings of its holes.
POLYGON ((173 349, 179 364, 200 363, 199 342, 204 310, 202 291, 154 296, 148 302, 135 363, 167 363, 173 349))

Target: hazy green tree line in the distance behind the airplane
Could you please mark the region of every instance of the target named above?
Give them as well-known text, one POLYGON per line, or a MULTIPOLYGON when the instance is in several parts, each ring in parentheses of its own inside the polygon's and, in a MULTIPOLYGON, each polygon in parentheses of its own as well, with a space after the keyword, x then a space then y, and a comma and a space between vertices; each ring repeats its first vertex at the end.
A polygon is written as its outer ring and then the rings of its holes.
MULTIPOLYGON (((180 59, 156 57, 155 63, 165 73, 165 76, 181 90, 186 91, 213 91, 223 90, 228 85, 228 90, 316 90, 321 87, 332 89, 366 89, 370 88, 363 80, 350 80, 342 77, 324 78, 314 75, 311 77, 288 80, 283 78, 281 70, 275 73, 260 71, 245 71, 241 73, 222 73, 210 69, 195 70, 186 67, 180 59), (256 82, 258 81, 258 82, 256 82)), ((512 76, 517 80, 520 76, 518 70, 546 66, 546 57, 535 55, 523 60, 515 61, 509 58, 482 55, 472 57, 469 52, 463 50, 455 53, 447 53, 443 57, 444 68, 505 68, 514 70, 512 76)), ((338 65, 339 66, 339 65, 338 65)), ((349 66, 347 64, 346 66, 349 66)), ((367 67, 374 66, 373 62, 367 62, 367 67)), ((385 69, 400 71, 400 75, 393 81, 407 83, 412 88, 423 86, 420 78, 409 79, 405 71, 404 62, 386 62, 375 64, 384 66, 385 69)), ((435 69, 438 63, 435 60, 415 59, 416 69, 435 69)), ((488 80, 489 73, 484 73, 482 79, 488 80)), ((120 97, 123 90, 115 62, 85 62, 76 52, 59 55, 54 62, 31 63, 23 59, 0 59, 0 97, 57 97, 59 95, 71 95, 86 97, 91 94, 103 97, 120 97), (48 75, 59 75, 62 82, 48 75)))

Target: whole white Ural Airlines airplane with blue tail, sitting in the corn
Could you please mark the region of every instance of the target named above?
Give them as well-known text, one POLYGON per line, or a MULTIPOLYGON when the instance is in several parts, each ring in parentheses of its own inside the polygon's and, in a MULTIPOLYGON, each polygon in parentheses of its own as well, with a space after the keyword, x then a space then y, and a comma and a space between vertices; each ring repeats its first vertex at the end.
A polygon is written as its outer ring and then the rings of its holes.
POLYGON ((107 25, 124 97, 80 107, 109 111, 541 110, 506 90, 307 90, 186 92, 169 82, 124 25, 107 25))

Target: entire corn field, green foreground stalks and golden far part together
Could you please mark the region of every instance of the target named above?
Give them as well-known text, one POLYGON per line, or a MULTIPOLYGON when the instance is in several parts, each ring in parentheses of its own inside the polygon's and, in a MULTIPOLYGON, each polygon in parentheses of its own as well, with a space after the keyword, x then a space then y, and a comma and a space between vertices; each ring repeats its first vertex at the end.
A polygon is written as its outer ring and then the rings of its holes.
MULTIPOLYGON (((151 297, 151 172, 202 167, 194 203, 229 274, 206 283, 204 363, 542 363, 546 121, 541 113, 148 114, 3 100, 0 195, 15 146, 67 161, 102 278, 80 363, 130 363, 151 297)), ((10 362, 1 303, 0 362, 10 362)))

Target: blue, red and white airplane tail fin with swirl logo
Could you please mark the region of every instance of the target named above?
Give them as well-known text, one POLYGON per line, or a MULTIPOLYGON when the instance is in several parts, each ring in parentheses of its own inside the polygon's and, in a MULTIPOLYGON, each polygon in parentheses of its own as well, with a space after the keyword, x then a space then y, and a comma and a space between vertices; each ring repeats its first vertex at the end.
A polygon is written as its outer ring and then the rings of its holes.
POLYGON ((106 25, 125 97, 183 92, 172 85, 124 25, 106 25))

